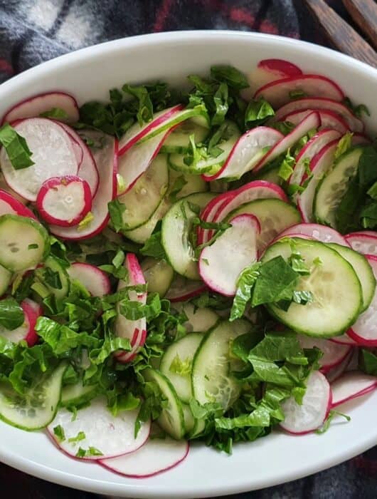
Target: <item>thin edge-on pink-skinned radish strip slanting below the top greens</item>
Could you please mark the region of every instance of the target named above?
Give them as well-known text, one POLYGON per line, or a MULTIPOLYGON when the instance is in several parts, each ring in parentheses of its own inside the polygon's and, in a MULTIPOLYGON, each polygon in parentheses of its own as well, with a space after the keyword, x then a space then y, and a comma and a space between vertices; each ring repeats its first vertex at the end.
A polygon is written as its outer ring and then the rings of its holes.
POLYGON ((132 148, 132 145, 135 145, 148 133, 156 131, 158 128, 162 128, 162 126, 166 125, 169 120, 173 120, 176 114, 183 109, 184 106, 178 104, 178 106, 173 106, 172 108, 155 113, 152 121, 149 121, 149 123, 142 126, 140 126, 139 123, 132 125, 119 141, 119 154, 123 155, 129 148, 132 148))

